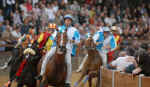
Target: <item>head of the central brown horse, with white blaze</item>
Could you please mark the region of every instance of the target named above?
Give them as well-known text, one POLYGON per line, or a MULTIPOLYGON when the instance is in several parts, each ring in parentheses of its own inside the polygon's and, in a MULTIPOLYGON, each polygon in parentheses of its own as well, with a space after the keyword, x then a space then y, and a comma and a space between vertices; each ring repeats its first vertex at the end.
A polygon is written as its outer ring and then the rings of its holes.
POLYGON ((57 53, 63 54, 66 52, 66 44, 67 44, 67 33, 58 33, 57 34, 57 53))

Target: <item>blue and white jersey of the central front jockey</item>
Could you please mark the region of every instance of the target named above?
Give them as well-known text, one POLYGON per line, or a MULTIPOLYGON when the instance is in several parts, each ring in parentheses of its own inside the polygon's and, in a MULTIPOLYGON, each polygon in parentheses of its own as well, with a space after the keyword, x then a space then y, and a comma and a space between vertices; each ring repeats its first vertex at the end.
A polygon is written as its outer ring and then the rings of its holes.
POLYGON ((79 31, 75 27, 72 27, 72 26, 66 28, 65 25, 60 26, 58 29, 59 29, 59 32, 61 33, 67 31, 68 42, 67 42, 66 48, 70 50, 70 52, 72 52, 72 55, 75 55, 77 44, 80 43, 79 31), (74 43, 72 43, 72 40, 74 40, 74 43))

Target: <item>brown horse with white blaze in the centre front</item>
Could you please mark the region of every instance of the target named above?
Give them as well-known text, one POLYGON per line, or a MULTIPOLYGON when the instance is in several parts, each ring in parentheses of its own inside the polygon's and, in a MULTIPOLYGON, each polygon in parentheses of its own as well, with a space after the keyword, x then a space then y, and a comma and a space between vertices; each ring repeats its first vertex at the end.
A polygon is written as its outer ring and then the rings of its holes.
MULTIPOLYGON (((56 52, 47 63, 46 71, 42 80, 38 81, 37 85, 40 87, 45 87, 48 85, 64 87, 65 85, 67 74, 67 65, 65 62, 67 34, 58 33, 56 43, 56 52)), ((41 70, 41 64, 42 60, 38 64, 38 72, 41 70)))

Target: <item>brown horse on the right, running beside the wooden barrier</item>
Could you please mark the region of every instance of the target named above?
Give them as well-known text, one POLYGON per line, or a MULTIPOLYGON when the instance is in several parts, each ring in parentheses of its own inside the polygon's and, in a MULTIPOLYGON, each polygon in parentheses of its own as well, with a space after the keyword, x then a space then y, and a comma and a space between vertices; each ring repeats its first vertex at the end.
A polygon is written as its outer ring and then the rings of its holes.
POLYGON ((85 46, 88 51, 88 58, 84 63, 83 69, 81 71, 80 79, 74 84, 74 87, 78 87, 83 78, 85 77, 82 84, 79 87, 83 87, 86 80, 89 82, 89 87, 92 87, 92 78, 97 77, 97 87, 99 87, 100 82, 100 67, 102 66, 102 58, 96 50, 96 45, 93 42, 92 37, 85 41, 85 46))

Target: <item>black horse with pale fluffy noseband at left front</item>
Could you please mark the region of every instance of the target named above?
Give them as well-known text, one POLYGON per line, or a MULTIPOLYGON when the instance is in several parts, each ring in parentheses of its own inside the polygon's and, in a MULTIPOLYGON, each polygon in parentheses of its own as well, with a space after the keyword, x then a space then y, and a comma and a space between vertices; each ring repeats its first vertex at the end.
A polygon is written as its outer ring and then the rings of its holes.
MULTIPOLYGON (((24 85, 26 85, 26 87, 36 87, 36 79, 34 77, 37 75, 37 64, 40 58, 40 50, 36 47, 36 45, 32 45, 23 51, 22 62, 24 62, 24 67, 20 76, 16 78, 18 83, 17 87, 23 87, 24 85)), ((20 69, 21 66, 22 65, 20 65, 18 69, 20 69)))

